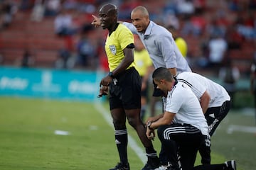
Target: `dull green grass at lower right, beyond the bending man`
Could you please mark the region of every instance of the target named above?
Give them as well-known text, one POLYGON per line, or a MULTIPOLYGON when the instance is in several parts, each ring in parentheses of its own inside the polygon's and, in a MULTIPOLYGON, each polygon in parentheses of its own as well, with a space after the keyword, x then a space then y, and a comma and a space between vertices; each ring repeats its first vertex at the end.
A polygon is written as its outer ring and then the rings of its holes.
POLYGON ((239 169, 250 170, 256 167, 256 131, 228 133, 231 125, 256 128, 253 110, 240 109, 228 113, 212 137, 213 152, 235 159, 239 169))

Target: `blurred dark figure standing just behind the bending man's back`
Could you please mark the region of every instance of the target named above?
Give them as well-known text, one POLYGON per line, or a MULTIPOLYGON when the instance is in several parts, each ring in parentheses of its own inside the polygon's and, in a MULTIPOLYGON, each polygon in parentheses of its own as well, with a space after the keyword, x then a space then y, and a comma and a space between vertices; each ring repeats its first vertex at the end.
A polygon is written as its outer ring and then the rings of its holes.
POLYGON ((223 82, 223 87, 228 91, 231 98, 231 106, 234 107, 236 82, 240 79, 238 67, 233 67, 232 61, 228 57, 224 62, 224 67, 220 68, 219 78, 223 82))

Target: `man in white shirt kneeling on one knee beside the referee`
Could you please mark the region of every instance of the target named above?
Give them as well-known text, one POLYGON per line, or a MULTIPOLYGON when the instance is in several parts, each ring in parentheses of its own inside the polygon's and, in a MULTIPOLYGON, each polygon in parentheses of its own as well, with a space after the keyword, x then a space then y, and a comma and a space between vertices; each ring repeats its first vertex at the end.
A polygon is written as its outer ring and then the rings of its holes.
POLYGON ((235 161, 193 167, 196 153, 208 135, 208 125, 201 104, 191 87, 185 82, 175 81, 168 69, 159 67, 154 71, 152 78, 157 88, 164 92, 164 113, 148 119, 146 136, 153 139, 154 129, 158 128, 161 149, 165 151, 171 163, 166 169, 179 169, 178 153, 183 170, 235 170, 235 161))

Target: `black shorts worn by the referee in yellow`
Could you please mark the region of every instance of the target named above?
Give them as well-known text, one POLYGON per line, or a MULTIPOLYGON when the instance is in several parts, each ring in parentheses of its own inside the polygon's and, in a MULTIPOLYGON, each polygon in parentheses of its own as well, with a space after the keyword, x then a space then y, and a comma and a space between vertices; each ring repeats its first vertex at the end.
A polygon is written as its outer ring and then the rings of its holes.
POLYGON ((132 67, 110 83, 110 111, 114 108, 141 108, 142 80, 132 67), (117 81, 115 81, 117 79, 117 81))

